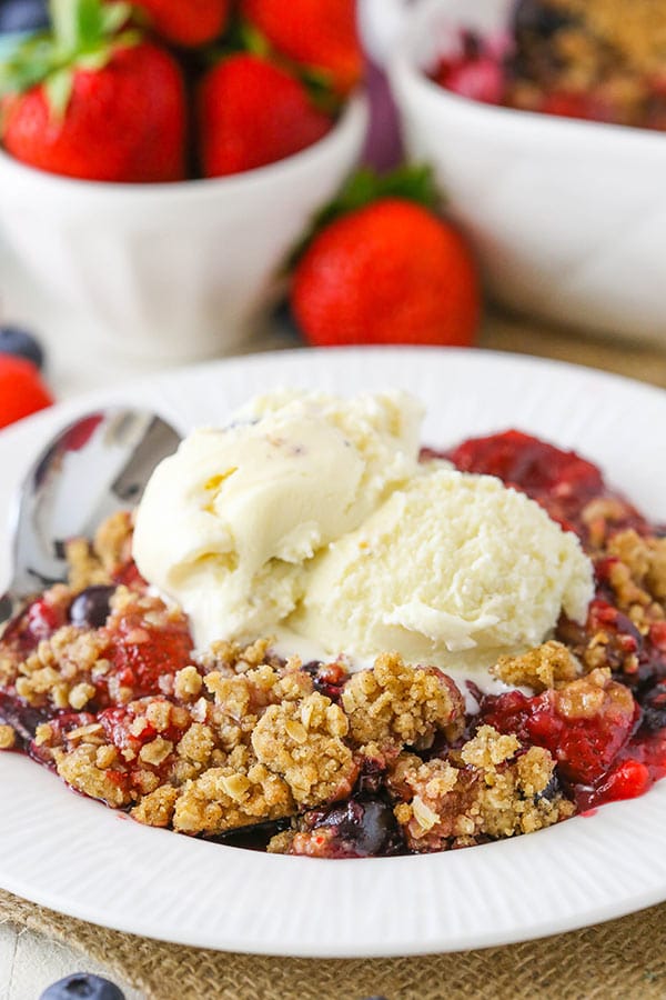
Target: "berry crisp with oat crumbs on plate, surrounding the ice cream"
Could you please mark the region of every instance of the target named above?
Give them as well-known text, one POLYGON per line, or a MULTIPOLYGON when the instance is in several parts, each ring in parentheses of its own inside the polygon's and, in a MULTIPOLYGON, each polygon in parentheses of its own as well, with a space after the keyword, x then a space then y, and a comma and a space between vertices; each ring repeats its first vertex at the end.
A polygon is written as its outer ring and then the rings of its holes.
POLYGON ((471 690, 471 712, 390 650, 356 673, 270 638, 199 653, 139 574, 125 512, 72 540, 69 581, 4 629, 0 749, 141 823, 317 858, 472 847, 647 791, 666 774, 666 530, 518 431, 423 454, 524 491, 593 561, 585 623, 492 668, 511 690, 471 690))

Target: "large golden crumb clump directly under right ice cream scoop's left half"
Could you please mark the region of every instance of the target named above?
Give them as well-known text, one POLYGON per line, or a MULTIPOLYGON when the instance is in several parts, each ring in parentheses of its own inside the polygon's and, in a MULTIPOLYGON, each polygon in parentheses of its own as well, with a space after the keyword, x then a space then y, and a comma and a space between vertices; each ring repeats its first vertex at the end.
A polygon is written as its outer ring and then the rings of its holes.
POLYGON ((342 704, 351 738, 363 746, 432 746, 437 730, 448 739, 464 726, 464 702, 451 678, 435 667, 408 667, 396 653, 385 653, 372 670, 353 674, 342 704))

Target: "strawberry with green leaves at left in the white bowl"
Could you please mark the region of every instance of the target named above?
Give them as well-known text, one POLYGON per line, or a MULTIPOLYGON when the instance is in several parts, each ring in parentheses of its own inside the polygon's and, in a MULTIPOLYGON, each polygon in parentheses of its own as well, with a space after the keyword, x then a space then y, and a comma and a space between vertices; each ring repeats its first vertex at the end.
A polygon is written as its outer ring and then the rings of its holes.
POLYGON ((0 76, 2 142, 41 170, 84 180, 184 177, 178 63, 135 31, 124 3, 53 0, 53 36, 28 41, 0 76))

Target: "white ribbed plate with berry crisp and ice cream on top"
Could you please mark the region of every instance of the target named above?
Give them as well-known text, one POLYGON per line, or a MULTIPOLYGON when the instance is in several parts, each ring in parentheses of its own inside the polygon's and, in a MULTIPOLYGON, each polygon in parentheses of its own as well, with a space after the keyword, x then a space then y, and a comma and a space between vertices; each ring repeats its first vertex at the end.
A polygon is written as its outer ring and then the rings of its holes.
MULTIPOLYGON (((666 898, 664 393, 532 359, 370 349, 191 369, 77 410, 140 400, 186 433, 276 382, 293 391, 167 460, 133 542, 121 516, 71 544, 70 582, 4 632, 0 884, 167 940, 329 957, 542 937, 666 898), (427 406, 421 460, 414 408, 386 386, 427 406), (343 390, 375 396, 347 409, 343 390), (374 563, 379 607, 354 589, 374 563), (222 609, 208 646, 206 581, 222 609), (317 608, 339 607, 336 642, 317 608), (532 634, 536 609, 554 617, 532 634), (290 657, 294 637, 319 654, 290 657)), ((8 432, 14 479, 73 413, 8 432)))

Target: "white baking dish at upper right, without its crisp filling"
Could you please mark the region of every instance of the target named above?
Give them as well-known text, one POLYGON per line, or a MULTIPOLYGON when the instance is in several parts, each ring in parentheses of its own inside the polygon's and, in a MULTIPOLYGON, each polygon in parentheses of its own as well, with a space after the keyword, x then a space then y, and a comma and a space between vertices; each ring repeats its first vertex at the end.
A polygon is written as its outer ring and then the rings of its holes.
POLYGON ((666 136, 496 108, 427 79, 463 28, 497 34, 513 0, 425 0, 392 84, 492 294, 557 322, 666 343, 666 136))

